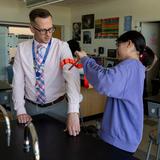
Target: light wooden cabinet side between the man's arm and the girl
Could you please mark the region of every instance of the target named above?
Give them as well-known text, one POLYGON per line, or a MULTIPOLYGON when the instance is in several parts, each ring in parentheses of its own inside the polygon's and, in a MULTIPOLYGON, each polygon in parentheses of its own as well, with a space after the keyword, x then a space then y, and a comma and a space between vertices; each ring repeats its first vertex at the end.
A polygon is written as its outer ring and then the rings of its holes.
POLYGON ((100 95, 93 88, 81 87, 83 101, 80 103, 80 113, 83 117, 93 116, 104 112, 106 97, 100 95))

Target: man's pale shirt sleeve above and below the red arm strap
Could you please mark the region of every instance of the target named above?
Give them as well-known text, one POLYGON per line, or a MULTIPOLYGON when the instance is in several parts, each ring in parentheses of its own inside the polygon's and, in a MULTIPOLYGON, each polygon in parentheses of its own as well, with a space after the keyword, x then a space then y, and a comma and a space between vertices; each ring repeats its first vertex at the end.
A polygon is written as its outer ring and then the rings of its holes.
MULTIPOLYGON (((72 58, 71 50, 66 42, 61 48, 61 60, 72 58)), ((80 74, 77 68, 73 67, 68 70, 72 64, 65 64, 63 66, 63 76, 66 81, 66 93, 68 98, 68 113, 79 112, 79 103, 81 100, 80 94, 80 74)))

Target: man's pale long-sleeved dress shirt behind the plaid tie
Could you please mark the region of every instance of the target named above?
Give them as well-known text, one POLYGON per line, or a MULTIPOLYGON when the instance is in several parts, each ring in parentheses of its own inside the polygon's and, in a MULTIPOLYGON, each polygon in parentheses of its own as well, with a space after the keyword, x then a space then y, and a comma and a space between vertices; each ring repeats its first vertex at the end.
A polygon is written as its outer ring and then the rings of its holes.
MULTIPOLYGON (((35 48, 38 42, 35 41, 35 48)), ((35 70, 32 56, 32 42, 27 40, 17 47, 13 66, 13 103, 17 115, 26 113, 25 98, 36 102, 35 70)), ((44 44, 47 48, 48 44, 44 44)), ((36 51, 35 51, 36 52, 36 51)), ((66 58, 73 58, 67 42, 52 38, 51 47, 44 66, 46 103, 52 102, 67 94, 68 113, 79 112, 80 76, 79 71, 71 64, 60 67, 60 62, 66 58)))

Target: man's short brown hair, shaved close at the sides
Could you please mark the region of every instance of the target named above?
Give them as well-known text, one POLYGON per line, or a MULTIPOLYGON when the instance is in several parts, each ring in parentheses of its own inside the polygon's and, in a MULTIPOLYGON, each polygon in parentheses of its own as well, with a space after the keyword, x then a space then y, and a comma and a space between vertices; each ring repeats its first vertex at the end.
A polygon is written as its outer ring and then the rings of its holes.
POLYGON ((47 18, 47 17, 52 17, 52 15, 50 14, 50 12, 46 9, 43 9, 43 8, 36 8, 36 9, 33 9, 30 14, 29 14, 29 19, 30 19, 30 22, 35 22, 35 19, 37 17, 40 17, 40 18, 47 18))

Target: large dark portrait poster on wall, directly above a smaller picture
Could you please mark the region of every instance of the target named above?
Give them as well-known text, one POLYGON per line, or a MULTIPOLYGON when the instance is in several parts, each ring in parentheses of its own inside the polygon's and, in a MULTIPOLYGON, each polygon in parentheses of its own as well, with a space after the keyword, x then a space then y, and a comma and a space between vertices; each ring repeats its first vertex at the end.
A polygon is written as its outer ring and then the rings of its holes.
POLYGON ((94 14, 88 14, 82 16, 82 29, 94 28, 94 14))

